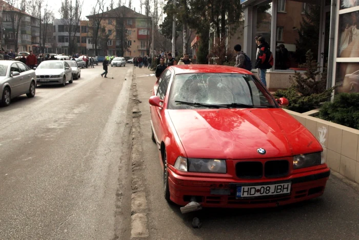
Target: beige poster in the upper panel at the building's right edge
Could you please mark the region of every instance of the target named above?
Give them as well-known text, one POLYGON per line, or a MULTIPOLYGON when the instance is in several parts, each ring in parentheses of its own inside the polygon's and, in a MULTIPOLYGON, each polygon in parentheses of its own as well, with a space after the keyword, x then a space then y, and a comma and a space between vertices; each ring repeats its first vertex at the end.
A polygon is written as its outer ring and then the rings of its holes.
POLYGON ((359 57, 359 11, 339 16, 338 57, 359 57))

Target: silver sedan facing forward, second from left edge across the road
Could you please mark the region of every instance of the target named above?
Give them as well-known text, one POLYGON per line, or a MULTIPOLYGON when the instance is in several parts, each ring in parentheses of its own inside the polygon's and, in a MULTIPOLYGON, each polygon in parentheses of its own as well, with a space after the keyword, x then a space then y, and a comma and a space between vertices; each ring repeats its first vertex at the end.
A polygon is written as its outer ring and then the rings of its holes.
POLYGON ((35 70, 37 85, 66 85, 72 83, 72 69, 66 61, 45 61, 38 65, 35 70))

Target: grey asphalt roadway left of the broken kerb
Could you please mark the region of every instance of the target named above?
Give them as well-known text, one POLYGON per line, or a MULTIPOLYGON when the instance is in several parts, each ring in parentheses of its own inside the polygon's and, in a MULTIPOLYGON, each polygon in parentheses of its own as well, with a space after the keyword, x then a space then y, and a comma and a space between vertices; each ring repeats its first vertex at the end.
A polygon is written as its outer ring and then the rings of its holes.
POLYGON ((0 239, 130 237, 132 71, 82 69, 0 108, 0 239))

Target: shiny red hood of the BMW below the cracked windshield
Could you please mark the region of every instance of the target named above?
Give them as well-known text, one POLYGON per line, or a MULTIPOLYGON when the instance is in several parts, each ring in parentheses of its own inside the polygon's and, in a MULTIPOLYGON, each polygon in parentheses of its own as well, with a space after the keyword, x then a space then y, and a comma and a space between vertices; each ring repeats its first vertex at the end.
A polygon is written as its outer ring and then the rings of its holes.
POLYGON ((316 138, 282 109, 168 110, 187 157, 253 159, 322 151, 316 138), (266 154, 257 153, 264 148, 266 154))

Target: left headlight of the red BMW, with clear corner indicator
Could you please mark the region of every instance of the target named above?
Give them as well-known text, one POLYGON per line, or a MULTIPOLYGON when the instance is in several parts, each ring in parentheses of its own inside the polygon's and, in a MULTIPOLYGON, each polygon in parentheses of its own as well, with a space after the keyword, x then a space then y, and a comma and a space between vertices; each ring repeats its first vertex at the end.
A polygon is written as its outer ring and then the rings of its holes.
POLYGON ((226 160, 178 157, 174 168, 183 172, 226 173, 226 160))

